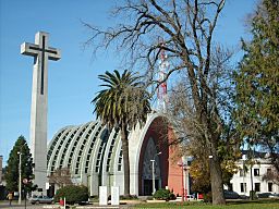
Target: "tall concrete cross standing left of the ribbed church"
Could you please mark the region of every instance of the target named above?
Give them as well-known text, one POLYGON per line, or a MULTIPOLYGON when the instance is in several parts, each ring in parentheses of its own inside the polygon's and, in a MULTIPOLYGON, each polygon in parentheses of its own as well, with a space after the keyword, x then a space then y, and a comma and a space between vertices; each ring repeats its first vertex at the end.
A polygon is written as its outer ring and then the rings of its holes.
POLYGON ((59 49, 48 47, 48 34, 38 32, 35 44, 24 42, 21 53, 34 57, 31 107, 31 151, 35 163, 34 184, 39 194, 46 194, 47 182, 47 112, 48 112, 48 60, 59 60, 59 49))

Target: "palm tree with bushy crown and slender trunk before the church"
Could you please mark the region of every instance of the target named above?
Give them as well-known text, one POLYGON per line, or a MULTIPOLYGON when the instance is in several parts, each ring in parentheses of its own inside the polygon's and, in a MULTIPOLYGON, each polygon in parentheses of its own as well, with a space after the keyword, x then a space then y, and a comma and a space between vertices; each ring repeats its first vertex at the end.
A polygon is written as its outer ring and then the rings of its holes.
POLYGON ((93 99, 94 112, 109 128, 120 128, 124 164, 124 196, 130 195, 129 128, 143 124, 150 112, 150 96, 140 77, 125 70, 98 75, 106 87, 93 99))

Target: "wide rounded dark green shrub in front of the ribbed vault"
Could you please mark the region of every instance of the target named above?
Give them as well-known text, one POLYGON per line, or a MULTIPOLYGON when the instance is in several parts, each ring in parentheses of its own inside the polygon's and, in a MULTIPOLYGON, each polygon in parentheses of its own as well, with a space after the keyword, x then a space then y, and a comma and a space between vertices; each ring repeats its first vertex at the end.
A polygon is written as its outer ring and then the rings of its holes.
POLYGON ((64 186, 57 190, 57 194, 54 196, 54 201, 59 201, 60 198, 64 198, 64 197, 65 197, 65 201, 70 205, 87 201, 88 189, 86 186, 75 186, 75 185, 64 186))

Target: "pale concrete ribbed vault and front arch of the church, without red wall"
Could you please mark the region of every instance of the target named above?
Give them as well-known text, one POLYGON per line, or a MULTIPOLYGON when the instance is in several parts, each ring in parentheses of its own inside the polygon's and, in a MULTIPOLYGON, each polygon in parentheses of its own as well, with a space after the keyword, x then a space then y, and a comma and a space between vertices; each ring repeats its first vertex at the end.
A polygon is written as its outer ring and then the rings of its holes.
MULTIPOLYGON (((142 195, 141 173, 148 139, 154 139, 154 144, 158 146, 158 151, 162 149, 158 143, 161 128, 157 127, 156 130, 155 126, 157 121, 162 124, 163 118, 165 115, 160 113, 149 114, 143 127, 136 125, 129 134, 130 192, 132 195, 142 195)), ((167 130, 167 124, 165 127, 167 130)), ((53 163, 56 169, 60 168, 61 163, 62 168, 68 168, 70 164, 73 183, 88 186, 90 195, 98 195, 99 185, 120 186, 120 194, 123 194, 124 176, 123 159, 120 158, 121 145, 120 132, 117 134, 116 130, 108 132, 107 127, 99 121, 78 126, 66 126, 59 130, 49 144, 48 172, 51 172, 53 163), (56 153, 57 157, 54 157, 56 153), (120 171, 118 170, 119 159, 122 167, 120 171), (77 162, 80 163, 78 167, 76 167, 77 162)), ((160 167, 163 167, 168 173, 168 167, 163 165, 168 164, 167 149, 159 156, 159 161, 160 167)), ((161 186, 167 185, 166 176, 168 174, 160 175, 161 186)))

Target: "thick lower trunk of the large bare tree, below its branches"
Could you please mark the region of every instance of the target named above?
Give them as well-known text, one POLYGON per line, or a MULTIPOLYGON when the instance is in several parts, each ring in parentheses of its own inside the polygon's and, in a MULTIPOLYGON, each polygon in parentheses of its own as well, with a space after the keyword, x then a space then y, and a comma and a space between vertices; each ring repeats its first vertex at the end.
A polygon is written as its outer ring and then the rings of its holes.
POLYGON ((213 158, 209 158, 213 205, 225 205, 222 171, 216 150, 215 147, 211 148, 213 158))

